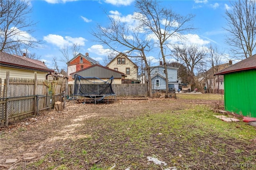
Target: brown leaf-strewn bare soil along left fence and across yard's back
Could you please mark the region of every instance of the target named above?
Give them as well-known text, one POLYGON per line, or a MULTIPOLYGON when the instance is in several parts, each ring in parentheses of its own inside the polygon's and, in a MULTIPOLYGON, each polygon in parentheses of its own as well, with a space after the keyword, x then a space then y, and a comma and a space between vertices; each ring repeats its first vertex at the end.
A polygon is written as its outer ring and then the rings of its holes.
MULTIPOLYGON (((186 99, 117 99, 117 101, 110 101, 109 104, 97 103, 94 105, 94 101, 86 103, 73 103, 72 101, 66 102, 66 108, 63 111, 49 111, 41 113, 39 117, 31 117, 20 122, 12 123, 9 127, 1 128, 0 131, 0 169, 23 169, 21 167, 26 167, 26 164, 30 162, 22 161, 22 158, 34 157, 31 162, 39 161, 48 154, 53 154, 56 152, 57 148, 66 148, 66 152, 74 152, 74 148, 69 148, 69 144, 76 140, 83 141, 84 138, 90 137, 90 132, 98 130, 100 136, 110 133, 109 129, 104 131, 104 126, 100 127, 97 124, 97 119, 108 118, 110 120, 115 119, 129 119, 147 113, 160 113, 167 110, 181 110, 191 107, 191 105, 202 104, 208 105, 212 109, 218 105, 219 101, 208 101, 208 100, 186 100, 186 99), (87 124, 84 126, 84 124, 87 124), (83 130, 80 128, 83 127, 83 130), (67 151, 68 150, 68 151, 67 151), (17 161, 13 164, 5 164, 6 159, 14 159, 17 161)), ((222 103, 223 104, 223 103, 222 103)), ((212 136, 212 140, 218 138, 218 136, 212 136)), ((104 142, 100 141, 104 138, 99 139, 98 144, 104 142)), ((127 140, 129 140, 127 138, 127 140)), ((226 143, 225 139, 218 138, 218 142, 226 143), (223 141, 222 141, 223 140, 223 141)), ((152 141, 150 141, 152 144, 152 141)), ((198 140, 200 143, 200 140, 198 140)), ((154 143, 154 142, 153 142, 154 143)), ((155 143, 157 144, 157 143, 155 143)), ((178 144, 178 143, 176 143, 178 144)), ((239 143, 243 145, 243 143, 239 143)), ((115 144, 115 146, 118 144, 115 144)), ((170 143, 162 143, 162 148, 166 148, 170 143), (164 146, 166 145, 166 146, 164 146)), ((186 144, 185 144, 186 145, 186 144)), ((189 145, 189 144, 188 144, 189 145)), ((76 145, 78 146, 78 145, 76 145)), ((255 143, 252 142, 252 146, 255 148, 255 143)), ((244 146, 250 149, 252 146, 244 146)), ((91 143, 91 150, 95 148, 95 144, 91 143)), ((177 146, 178 147, 178 146, 177 146)), ((182 146, 184 147, 184 146, 182 146)), ((110 150, 113 148, 109 148, 110 150)), ((119 150, 122 148, 118 148, 119 150)), ((117 150, 118 150, 117 149, 117 150)), ((155 149, 155 148, 152 148, 155 149)), ((158 150, 161 152, 162 149, 158 150)), ((89 152, 89 151, 88 151, 89 152)), ((123 152, 128 152, 124 150, 123 152)), ((131 150, 136 154, 136 150, 131 150)), ((150 150, 147 150, 150 152, 150 150)), ((132 154, 132 153, 130 153, 132 154)), ((230 153, 232 155, 232 153, 230 153)), ((249 153, 248 153, 249 154, 249 153)), ((72 155, 72 154, 71 154, 72 155)), ((160 155, 160 154, 159 154, 160 155)), ((96 157, 96 156, 95 156, 96 157)), ((48 162, 56 162, 60 160, 54 160, 54 156, 49 157, 48 162), (52 160, 51 160, 52 159, 52 160)), ((93 164, 103 162, 108 164, 109 158, 101 157, 100 159, 94 160, 94 162, 88 162, 84 164, 86 169, 90 169, 93 164)), ((204 154, 202 154, 202 159, 204 154)), ((211 158, 214 160, 214 156, 211 158)), ((142 164, 147 164, 145 160, 141 161, 142 164)), ((44 169, 44 163, 38 167, 30 167, 28 169, 44 169)), ((218 169, 218 165, 222 167, 223 162, 217 162, 216 165, 210 166, 210 169, 218 169), (217 168, 214 168, 217 166, 217 168)), ((68 166, 68 165, 66 165, 68 166)), ((71 166, 70 166, 71 167, 71 166)), ((225 166, 224 166, 225 167, 225 166)), ((159 168, 159 167, 158 167, 159 168)), ((158 169, 156 168, 156 169, 158 169)), ((222 167, 223 168, 223 167, 222 167)), ((72 169, 72 168, 70 168, 72 169)), ((74 168, 76 169, 76 168, 74 168)), ((83 169, 83 168, 81 168, 83 169)), ((122 169, 116 167, 115 169, 122 169)), ((124 168, 123 168, 124 169, 124 168)), ((131 168, 136 169, 136 168, 131 168)), ((140 169, 140 168, 138 168, 140 169)), ((159 168, 161 169, 161 168, 159 168)), ((194 165, 190 169, 201 169, 200 166, 194 165)), ((230 168, 232 169, 232 168, 230 168)))

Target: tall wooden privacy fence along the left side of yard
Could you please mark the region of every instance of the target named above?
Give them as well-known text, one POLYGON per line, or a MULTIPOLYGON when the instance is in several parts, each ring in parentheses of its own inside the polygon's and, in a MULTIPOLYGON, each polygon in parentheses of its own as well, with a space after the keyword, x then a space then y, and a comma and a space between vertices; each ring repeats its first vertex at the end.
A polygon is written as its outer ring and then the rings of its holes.
POLYGON ((13 78, 9 77, 9 72, 6 73, 4 85, 0 85, 1 126, 31 115, 39 115, 42 111, 52 109, 56 101, 62 101, 65 92, 56 94, 59 91, 55 88, 55 95, 50 96, 47 81, 36 77, 36 72, 35 79, 13 78))

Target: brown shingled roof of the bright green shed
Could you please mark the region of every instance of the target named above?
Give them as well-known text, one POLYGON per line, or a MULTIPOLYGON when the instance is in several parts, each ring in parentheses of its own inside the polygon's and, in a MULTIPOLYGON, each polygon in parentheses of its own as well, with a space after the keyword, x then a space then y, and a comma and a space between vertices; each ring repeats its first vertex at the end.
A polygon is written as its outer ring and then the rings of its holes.
POLYGON ((256 69, 256 54, 242 61, 239 61, 238 63, 235 63, 230 67, 223 69, 218 73, 215 73, 214 75, 224 75, 226 73, 232 73, 236 71, 243 71, 243 70, 249 70, 249 69, 256 69))

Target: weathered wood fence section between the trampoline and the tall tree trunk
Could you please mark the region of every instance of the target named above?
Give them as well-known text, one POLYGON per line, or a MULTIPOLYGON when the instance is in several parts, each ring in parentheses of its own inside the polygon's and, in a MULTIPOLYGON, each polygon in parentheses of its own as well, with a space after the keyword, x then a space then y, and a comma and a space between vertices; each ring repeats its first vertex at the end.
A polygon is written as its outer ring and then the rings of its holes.
POLYGON ((147 84, 112 84, 117 96, 148 96, 147 84))

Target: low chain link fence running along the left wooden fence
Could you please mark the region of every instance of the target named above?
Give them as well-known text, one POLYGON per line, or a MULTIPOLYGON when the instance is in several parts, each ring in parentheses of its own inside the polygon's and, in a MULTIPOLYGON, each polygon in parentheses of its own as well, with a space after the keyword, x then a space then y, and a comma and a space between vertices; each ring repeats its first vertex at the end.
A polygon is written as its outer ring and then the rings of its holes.
POLYGON ((54 96, 34 95, 24 97, 0 98, 1 126, 8 126, 9 122, 39 115, 54 108, 54 103, 60 101, 65 108, 65 93, 54 96))

